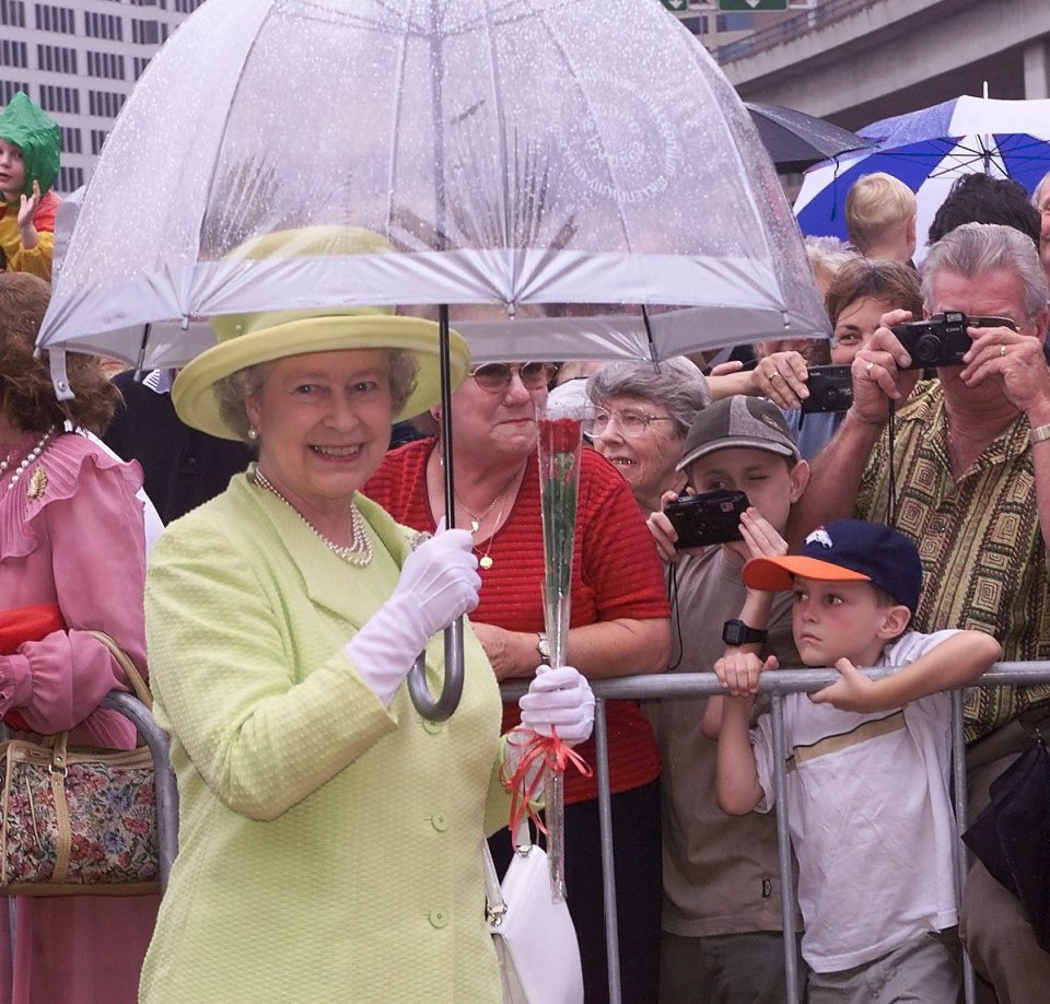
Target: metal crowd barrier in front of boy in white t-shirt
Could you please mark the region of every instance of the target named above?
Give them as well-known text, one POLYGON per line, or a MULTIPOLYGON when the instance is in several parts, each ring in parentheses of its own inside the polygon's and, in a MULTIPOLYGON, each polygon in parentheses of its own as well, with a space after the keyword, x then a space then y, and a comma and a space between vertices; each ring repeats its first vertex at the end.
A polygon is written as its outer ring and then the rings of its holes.
MULTIPOLYGON (((882 679, 894 672, 887 667, 865 669, 871 679, 882 679)), ((759 677, 759 692, 770 696, 773 747, 784 747, 783 696, 785 693, 819 690, 839 678, 836 669, 778 669, 759 677)), ((967 827, 966 744, 962 735, 964 690, 970 687, 1019 687, 1050 682, 1050 662, 996 663, 978 680, 952 693, 952 780, 955 801, 956 830, 959 837, 967 827)), ((505 701, 516 701, 527 689, 527 682, 504 684, 500 690, 505 701)), ((670 673, 652 676, 625 676, 619 679, 592 680, 596 698, 594 716, 598 780, 598 820, 600 826, 603 892, 605 896, 605 930, 609 966, 609 1002, 621 1004, 619 947, 616 918, 616 874, 612 864, 612 805, 609 789, 608 731, 605 702, 630 698, 633 700, 673 700, 722 693, 713 673, 670 673)), ((773 786, 777 799, 777 850, 781 875, 791 875, 791 841, 788 830, 788 770, 783 759, 773 762, 773 786)), ((712 796, 713 797, 713 796, 712 796)), ((962 879, 968 871, 966 847, 956 841, 955 867, 961 895, 962 879)), ((789 1004, 798 1004, 797 960, 795 956, 795 897, 793 884, 782 882, 781 912, 784 936, 784 971, 789 1004)), ((569 890, 572 895, 572 890, 569 890)), ((975 1004, 977 991, 973 966, 962 953, 962 987, 966 1004, 975 1004)))

